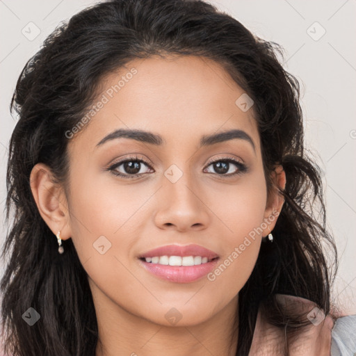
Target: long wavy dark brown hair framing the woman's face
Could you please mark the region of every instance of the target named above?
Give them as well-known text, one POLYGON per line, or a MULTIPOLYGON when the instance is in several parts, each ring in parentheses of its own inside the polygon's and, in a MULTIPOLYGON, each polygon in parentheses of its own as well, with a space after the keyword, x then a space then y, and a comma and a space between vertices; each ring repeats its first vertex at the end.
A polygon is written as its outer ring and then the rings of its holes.
POLYGON ((262 243, 252 275, 239 292, 236 355, 248 355, 261 305, 270 323, 286 330, 286 338, 302 325, 281 307, 278 293, 307 298, 330 312, 337 252, 326 229, 321 171, 305 154, 298 80, 284 70, 278 53, 283 56, 280 45, 258 38, 204 1, 106 1, 49 35, 22 70, 11 102, 18 120, 10 139, 6 223, 12 211, 13 216, 3 245, 6 271, 0 286, 7 353, 95 356, 98 330, 88 276, 71 239, 63 242, 65 253, 58 254, 29 177, 42 162, 67 186, 65 132, 83 118, 106 74, 153 55, 202 56, 223 65, 254 100, 268 191, 275 165, 286 172, 273 244, 262 243), (31 327, 22 318, 29 307, 40 314, 40 322, 31 327))

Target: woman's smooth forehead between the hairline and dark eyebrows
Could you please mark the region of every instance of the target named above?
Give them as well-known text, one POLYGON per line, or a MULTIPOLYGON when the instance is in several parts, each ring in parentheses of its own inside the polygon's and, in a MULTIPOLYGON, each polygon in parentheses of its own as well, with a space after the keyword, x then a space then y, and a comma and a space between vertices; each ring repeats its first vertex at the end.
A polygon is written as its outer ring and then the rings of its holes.
POLYGON ((95 149, 116 129, 159 133, 164 144, 177 144, 177 140, 198 143, 204 135, 241 129, 254 138, 259 149, 253 106, 241 110, 236 104, 241 95, 245 95, 243 89, 208 58, 131 60, 102 79, 99 95, 90 107, 92 115, 87 115, 88 124, 72 144, 85 142, 87 149, 95 149))

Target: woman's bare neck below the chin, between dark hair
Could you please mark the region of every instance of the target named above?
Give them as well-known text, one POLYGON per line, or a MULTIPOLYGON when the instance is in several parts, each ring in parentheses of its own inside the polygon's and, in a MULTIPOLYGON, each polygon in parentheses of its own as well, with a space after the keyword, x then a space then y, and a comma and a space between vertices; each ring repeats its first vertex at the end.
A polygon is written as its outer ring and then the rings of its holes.
MULTIPOLYGON (((94 298, 95 299, 95 298, 94 298)), ((96 356, 234 356, 237 298, 197 325, 159 325, 133 315, 113 300, 95 303, 99 339, 96 356)))

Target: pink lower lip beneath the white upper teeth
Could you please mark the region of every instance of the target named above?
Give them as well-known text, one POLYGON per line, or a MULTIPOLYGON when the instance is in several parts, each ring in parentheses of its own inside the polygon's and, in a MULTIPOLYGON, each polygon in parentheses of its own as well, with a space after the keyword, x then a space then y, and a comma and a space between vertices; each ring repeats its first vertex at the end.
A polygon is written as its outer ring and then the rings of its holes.
POLYGON ((199 264, 197 266, 169 266, 163 264, 152 264, 150 262, 140 262, 152 275, 156 275, 162 280, 175 283, 189 283, 200 280, 200 278, 207 275, 218 263, 218 259, 213 259, 206 264, 199 264))

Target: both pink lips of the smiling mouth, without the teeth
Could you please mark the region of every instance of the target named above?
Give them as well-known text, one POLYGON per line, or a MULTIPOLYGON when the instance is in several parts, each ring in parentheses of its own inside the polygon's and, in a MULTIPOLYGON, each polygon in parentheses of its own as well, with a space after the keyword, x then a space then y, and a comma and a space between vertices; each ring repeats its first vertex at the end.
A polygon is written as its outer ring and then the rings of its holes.
POLYGON ((149 273, 161 280, 175 283, 190 283, 200 280, 216 267, 218 261, 219 255, 216 252, 203 248, 200 245, 165 245, 145 252, 139 257, 140 265, 149 273), (145 257, 160 257, 165 255, 181 257, 201 256, 208 257, 209 261, 206 264, 197 266, 166 266, 145 261, 145 257))

